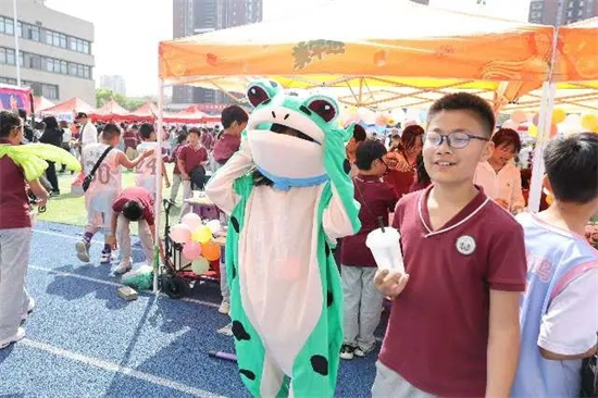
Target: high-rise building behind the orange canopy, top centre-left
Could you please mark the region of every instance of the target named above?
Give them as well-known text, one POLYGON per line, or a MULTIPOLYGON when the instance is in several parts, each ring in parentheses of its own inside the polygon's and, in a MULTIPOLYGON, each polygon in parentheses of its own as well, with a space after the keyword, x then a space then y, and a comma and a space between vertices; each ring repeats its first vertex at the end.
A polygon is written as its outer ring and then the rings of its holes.
MULTIPOLYGON (((173 0, 174 38, 199 35, 262 21, 262 0, 173 0)), ((173 88, 174 103, 228 102, 215 90, 191 86, 173 88)))

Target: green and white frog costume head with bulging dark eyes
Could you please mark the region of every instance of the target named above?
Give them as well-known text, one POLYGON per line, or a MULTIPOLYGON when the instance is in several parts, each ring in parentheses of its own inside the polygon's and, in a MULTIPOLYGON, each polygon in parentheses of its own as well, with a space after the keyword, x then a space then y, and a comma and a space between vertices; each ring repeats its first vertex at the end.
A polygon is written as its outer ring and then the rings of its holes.
POLYGON ((274 182, 274 188, 288 190, 327 182, 324 147, 328 138, 346 141, 350 137, 338 127, 336 101, 322 95, 307 99, 284 95, 281 85, 272 80, 252 83, 247 97, 256 107, 247 139, 257 169, 274 182))

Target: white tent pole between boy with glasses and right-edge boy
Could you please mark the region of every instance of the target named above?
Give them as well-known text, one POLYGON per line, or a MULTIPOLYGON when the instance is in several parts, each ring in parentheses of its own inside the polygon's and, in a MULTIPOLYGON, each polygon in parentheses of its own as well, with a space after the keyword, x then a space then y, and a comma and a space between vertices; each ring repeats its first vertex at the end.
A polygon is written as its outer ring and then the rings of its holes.
POLYGON ((556 27, 552 37, 552 57, 548 79, 543 85, 540 114, 538 123, 538 136, 536 137, 536 149, 534 150, 534 164, 532 165, 532 181, 530 184, 530 200, 527 209, 537 213, 540 209, 541 182, 544 179, 544 150, 550 139, 550 125, 552 124, 552 108, 555 107, 555 95, 557 84, 552 82, 555 63, 557 62, 557 42, 559 28, 556 27))

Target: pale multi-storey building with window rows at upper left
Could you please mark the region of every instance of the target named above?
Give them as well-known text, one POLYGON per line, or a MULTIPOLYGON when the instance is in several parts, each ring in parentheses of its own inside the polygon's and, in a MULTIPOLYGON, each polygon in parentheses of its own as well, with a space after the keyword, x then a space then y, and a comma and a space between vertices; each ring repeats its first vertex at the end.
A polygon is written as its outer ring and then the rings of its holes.
POLYGON ((53 102, 78 97, 96 104, 94 24, 52 10, 43 0, 17 0, 14 26, 12 1, 0 3, 0 83, 16 85, 18 62, 21 83, 34 95, 53 102))

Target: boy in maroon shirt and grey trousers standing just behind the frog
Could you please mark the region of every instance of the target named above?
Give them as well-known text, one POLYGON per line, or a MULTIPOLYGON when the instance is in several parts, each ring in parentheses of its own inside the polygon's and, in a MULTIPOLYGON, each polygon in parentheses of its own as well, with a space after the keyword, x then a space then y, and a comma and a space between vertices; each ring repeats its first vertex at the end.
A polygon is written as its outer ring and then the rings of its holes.
POLYGON ((363 141, 356 151, 359 170, 353 177, 356 200, 360 202, 361 229, 342 239, 344 328, 340 358, 364 357, 376 346, 374 331, 382 313, 383 297, 374 286, 376 262, 365 246, 367 234, 378 227, 378 217, 388 225, 388 215, 397 204, 397 194, 381 177, 386 173, 386 148, 377 140, 363 141))

